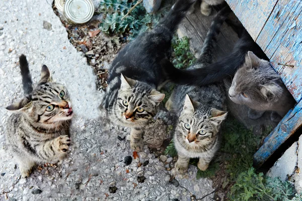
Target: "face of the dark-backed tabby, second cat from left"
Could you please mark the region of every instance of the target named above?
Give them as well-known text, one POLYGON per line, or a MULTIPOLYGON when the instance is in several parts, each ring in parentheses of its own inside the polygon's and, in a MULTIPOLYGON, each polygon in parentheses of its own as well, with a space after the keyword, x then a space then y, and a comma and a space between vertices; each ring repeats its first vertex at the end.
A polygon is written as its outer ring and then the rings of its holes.
POLYGON ((165 94, 121 75, 114 114, 120 124, 127 127, 142 127, 153 118, 165 94))

